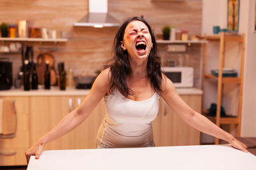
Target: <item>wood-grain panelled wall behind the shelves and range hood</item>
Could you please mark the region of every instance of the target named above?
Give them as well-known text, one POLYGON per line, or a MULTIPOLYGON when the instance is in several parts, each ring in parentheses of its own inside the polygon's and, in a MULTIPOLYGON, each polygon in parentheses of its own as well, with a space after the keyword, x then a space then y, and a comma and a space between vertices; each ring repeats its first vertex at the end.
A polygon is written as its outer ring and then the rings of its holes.
MULTIPOLYGON (((120 22, 124 18, 143 15, 154 27, 155 34, 161 34, 165 25, 176 25, 178 29, 188 30, 190 35, 201 34, 202 1, 152 2, 149 0, 109 0, 109 13, 120 22)), ((19 19, 33 21, 33 25, 61 31, 68 42, 56 46, 35 45, 35 58, 39 53, 49 52, 56 63, 65 61, 66 68, 74 67, 74 74, 93 74, 108 60, 113 53, 112 45, 118 28, 73 27, 74 22, 86 15, 88 0, 0 0, 0 22, 16 24, 19 19), (44 47, 44 48, 42 48, 44 47)), ((195 67, 195 78, 200 78, 200 45, 189 48, 189 66, 195 67)), ((166 53, 166 46, 159 45, 159 54, 163 58, 176 57, 177 54, 166 53), (171 56, 170 56, 171 55, 171 56)), ((10 57, 13 72, 19 71, 21 65, 19 54, 0 54, 10 57)), ((55 64, 56 66, 56 64, 55 64)), ((198 84, 198 83, 197 83, 198 84)))

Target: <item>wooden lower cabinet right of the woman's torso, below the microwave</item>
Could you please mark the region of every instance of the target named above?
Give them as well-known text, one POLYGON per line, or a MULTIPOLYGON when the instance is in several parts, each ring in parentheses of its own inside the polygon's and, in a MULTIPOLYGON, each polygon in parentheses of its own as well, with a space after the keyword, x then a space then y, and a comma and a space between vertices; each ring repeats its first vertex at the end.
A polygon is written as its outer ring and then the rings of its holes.
MULTIPOLYGON (((193 110, 201 113, 202 95, 180 95, 193 110)), ((190 127, 161 97, 159 113, 153 122, 156 146, 200 145, 200 132, 190 127)))

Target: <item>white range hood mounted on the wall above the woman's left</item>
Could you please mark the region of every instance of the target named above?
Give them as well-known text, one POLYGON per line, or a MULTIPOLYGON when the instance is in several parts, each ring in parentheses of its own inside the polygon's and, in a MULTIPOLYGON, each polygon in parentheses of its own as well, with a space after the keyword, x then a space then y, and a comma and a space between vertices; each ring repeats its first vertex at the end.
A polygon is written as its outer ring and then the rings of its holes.
POLYGON ((74 26, 118 27, 120 22, 108 13, 108 0, 89 0, 89 12, 74 26))

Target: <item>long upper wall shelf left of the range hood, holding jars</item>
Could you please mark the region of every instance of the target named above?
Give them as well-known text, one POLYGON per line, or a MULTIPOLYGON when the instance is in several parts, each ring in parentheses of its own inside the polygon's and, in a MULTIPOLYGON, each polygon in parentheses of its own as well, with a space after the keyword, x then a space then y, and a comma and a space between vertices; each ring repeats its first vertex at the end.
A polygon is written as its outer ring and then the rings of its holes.
POLYGON ((59 42, 67 42, 68 39, 67 38, 56 38, 56 39, 47 39, 47 38, 0 38, 0 41, 59 43, 59 42))

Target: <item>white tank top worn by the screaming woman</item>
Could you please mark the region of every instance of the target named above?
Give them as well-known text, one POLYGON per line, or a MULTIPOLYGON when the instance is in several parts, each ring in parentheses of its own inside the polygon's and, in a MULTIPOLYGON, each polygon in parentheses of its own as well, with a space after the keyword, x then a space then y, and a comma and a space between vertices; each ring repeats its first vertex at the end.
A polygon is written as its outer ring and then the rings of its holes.
POLYGON ((118 90, 105 96, 106 115, 97 134, 97 143, 113 148, 143 147, 153 141, 152 121, 157 117, 159 95, 146 101, 132 101, 118 90))

